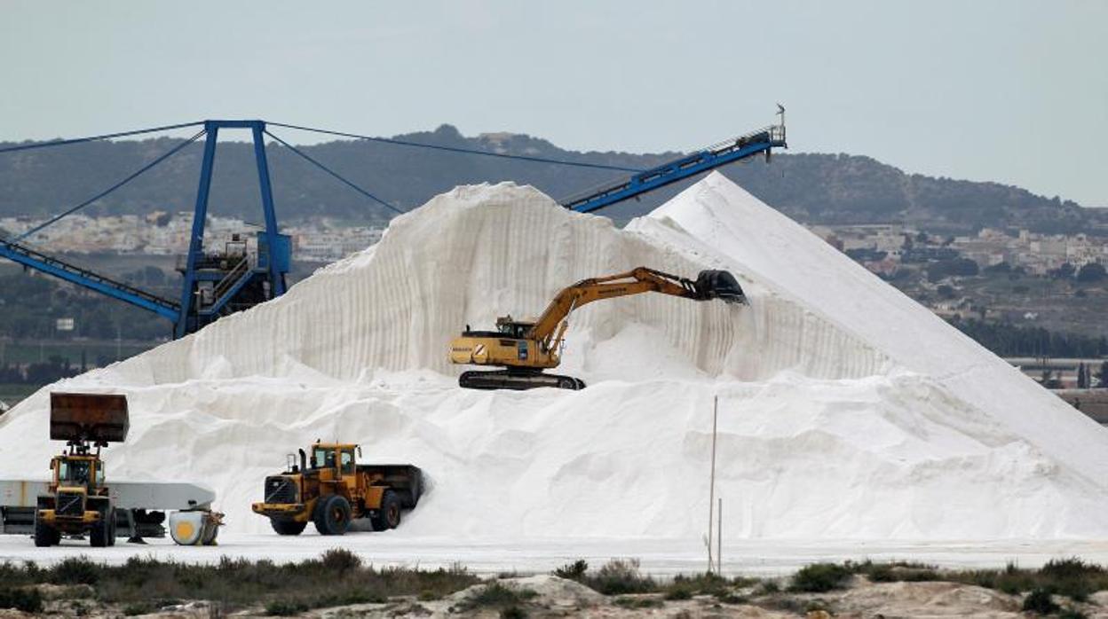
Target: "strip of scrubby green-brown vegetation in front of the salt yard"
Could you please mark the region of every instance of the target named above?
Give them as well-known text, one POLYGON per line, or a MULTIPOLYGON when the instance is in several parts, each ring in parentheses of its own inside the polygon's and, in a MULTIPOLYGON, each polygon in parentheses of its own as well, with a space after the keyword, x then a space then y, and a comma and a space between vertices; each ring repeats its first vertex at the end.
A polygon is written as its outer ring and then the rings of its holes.
MULTIPOLYGON (((878 611, 865 603, 889 603, 893 598, 885 592, 865 602, 864 595, 852 598, 852 592, 864 594, 868 588, 890 582, 932 582, 950 588, 992 589, 1013 613, 1077 618, 1099 609, 1092 596, 1108 591, 1108 570, 1078 558, 1051 560, 1040 569, 1008 565, 981 570, 944 570, 904 561, 822 563, 790 577, 768 579, 714 574, 659 579, 642 572, 637 559, 613 559, 596 569, 578 559, 553 575, 584 586, 577 589, 593 597, 592 601, 577 599, 573 602, 576 608, 601 603, 612 612, 630 616, 655 609, 686 611, 701 607, 728 616, 745 612, 740 608, 743 606, 818 617, 824 612, 864 615, 878 611), (596 594, 606 599, 595 601, 602 599, 596 594)), ((318 558, 285 565, 229 558, 214 565, 186 565, 133 557, 123 565, 109 566, 78 557, 51 567, 31 561, 0 564, 0 609, 136 616, 176 612, 183 605, 199 602, 211 616, 233 611, 297 616, 319 608, 378 603, 387 605, 381 612, 387 610, 394 617, 427 615, 431 607, 463 617, 491 612, 507 618, 542 615, 553 608, 552 603, 565 609, 562 601, 553 602, 551 598, 564 594, 535 590, 515 577, 513 572, 481 579, 461 567, 375 568, 348 550, 328 550, 318 558)), ((1108 603, 1104 597, 1097 599, 1108 603)))

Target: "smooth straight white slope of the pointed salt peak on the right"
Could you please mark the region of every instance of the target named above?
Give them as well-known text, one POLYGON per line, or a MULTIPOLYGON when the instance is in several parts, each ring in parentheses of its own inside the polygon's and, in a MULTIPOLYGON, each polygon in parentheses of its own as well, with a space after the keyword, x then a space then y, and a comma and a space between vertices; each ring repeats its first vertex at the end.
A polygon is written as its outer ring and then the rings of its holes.
POLYGON ((771 279, 801 307, 934 379, 1051 458, 1097 483, 1108 479, 1102 426, 722 175, 709 175, 648 219, 630 228, 680 247, 695 237, 702 255, 771 279), (663 227, 678 233, 670 237, 663 227))

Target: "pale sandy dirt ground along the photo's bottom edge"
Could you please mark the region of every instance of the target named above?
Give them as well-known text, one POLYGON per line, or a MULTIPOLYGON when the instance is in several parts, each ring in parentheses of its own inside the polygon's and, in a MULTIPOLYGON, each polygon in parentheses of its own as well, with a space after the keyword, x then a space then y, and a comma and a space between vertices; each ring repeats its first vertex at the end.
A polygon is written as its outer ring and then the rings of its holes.
MULTIPOLYGON (((695 596, 684 600, 666 600, 660 594, 637 596, 604 596, 572 580, 554 576, 530 576, 495 580, 510 590, 525 595, 516 602, 472 606, 485 588, 485 581, 438 600, 411 597, 393 598, 384 603, 365 603, 305 611, 297 617, 328 619, 399 618, 399 617, 673 617, 673 618, 1006 618, 1034 617, 1023 612, 1023 596, 956 582, 870 582, 855 576, 850 586, 827 594, 772 592, 759 595, 751 587, 739 589, 729 599, 695 596)), ((124 615, 160 618, 265 617, 265 608, 248 608, 224 612, 217 605, 205 601, 182 602, 148 615, 133 609, 104 606, 95 601, 94 591, 83 585, 40 585, 47 599, 40 616, 90 618, 124 615)), ((1100 591, 1083 602, 1064 598, 1055 601, 1063 610, 1079 612, 1069 617, 1108 619, 1108 591, 1100 591)), ((14 610, 0 610, 0 618, 30 617, 14 610)))

